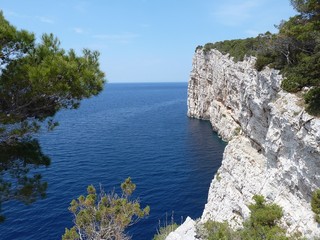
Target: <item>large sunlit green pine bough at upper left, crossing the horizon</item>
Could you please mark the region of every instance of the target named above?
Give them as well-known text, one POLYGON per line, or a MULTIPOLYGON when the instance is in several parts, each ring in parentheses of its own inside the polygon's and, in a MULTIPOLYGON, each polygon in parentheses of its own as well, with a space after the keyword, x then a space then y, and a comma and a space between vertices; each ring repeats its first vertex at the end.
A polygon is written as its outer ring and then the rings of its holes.
POLYGON ((52 34, 39 44, 34 35, 17 30, 0 13, 0 142, 38 132, 42 122, 52 130, 61 109, 75 109, 104 85, 99 53, 66 52, 52 34))

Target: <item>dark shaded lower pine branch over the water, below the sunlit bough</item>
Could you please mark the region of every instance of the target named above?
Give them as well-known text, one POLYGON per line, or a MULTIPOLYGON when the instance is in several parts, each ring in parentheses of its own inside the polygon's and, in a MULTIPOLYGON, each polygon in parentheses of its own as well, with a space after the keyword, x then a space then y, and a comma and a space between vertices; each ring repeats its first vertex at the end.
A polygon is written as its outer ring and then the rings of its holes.
POLYGON ((5 220, 3 203, 17 200, 31 204, 45 198, 47 182, 36 169, 49 165, 50 158, 43 154, 36 139, 0 143, 0 222, 5 220))

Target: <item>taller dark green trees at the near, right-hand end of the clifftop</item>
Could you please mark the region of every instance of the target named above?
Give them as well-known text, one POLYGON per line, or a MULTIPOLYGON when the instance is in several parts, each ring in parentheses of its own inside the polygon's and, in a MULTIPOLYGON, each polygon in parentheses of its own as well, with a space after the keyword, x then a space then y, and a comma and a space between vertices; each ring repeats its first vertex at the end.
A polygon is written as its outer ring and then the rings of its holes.
POLYGON ((273 58, 272 64, 285 76, 282 88, 298 92, 309 87, 305 95, 306 110, 319 115, 320 2, 291 0, 291 4, 299 14, 278 26, 279 33, 270 39, 266 51, 259 56, 257 69, 261 70, 273 58))

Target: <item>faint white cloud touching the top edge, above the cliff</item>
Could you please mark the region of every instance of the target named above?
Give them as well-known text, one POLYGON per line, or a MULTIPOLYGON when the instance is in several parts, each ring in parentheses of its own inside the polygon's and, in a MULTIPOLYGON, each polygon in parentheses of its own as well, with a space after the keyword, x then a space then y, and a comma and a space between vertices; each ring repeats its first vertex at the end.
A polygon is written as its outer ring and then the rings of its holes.
POLYGON ((222 24, 238 26, 249 20, 264 0, 227 1, 213 12, 214 17, 222 24))

